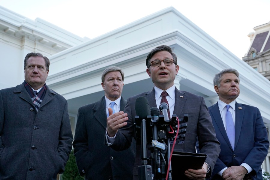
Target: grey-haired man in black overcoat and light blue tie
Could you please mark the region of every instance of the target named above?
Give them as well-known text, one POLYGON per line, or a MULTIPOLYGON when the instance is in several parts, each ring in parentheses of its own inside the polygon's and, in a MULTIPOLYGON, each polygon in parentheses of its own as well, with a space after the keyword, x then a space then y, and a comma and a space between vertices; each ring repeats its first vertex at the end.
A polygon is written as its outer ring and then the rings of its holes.
POLYGON ((132 179, 135 144, 122 152, 104 144, 108 108, 119 112, 127 102, 121 97, 123 81, 121 68, 108 67, 101 76, 105 95, 98 102, 79 108, 73 147, 79 173, 85 180, 132 179))

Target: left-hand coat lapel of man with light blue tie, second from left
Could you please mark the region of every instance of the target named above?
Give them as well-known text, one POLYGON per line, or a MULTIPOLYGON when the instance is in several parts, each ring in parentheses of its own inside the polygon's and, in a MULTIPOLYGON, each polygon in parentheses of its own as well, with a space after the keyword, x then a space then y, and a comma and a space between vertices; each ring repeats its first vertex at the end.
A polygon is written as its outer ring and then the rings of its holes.
POLYGON ((105 96, 101 98, 98 102, 96 102, 95 106, 93 107, 94 110, 94 117, 95 119, 106 129, 107 127, 107 114, 106 114, 106 100, 105 96))

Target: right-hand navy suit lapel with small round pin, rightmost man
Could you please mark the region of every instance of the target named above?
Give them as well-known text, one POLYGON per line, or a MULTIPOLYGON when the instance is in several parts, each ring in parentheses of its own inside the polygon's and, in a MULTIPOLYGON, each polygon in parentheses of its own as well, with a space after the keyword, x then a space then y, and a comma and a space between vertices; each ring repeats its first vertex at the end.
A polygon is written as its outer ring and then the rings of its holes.
POLYGON ((243 124, 244 111, 245 111, 245 107, 235 102, 235 147, 239 140, 239 136, 240 136, 240 132, 241 132, 242 124, 243 124))

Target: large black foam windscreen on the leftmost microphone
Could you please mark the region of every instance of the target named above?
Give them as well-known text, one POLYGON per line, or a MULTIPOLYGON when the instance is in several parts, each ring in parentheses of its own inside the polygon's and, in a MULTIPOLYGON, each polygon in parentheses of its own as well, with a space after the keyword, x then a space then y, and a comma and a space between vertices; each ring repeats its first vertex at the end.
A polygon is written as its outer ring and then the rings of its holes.
POLYGON ((150 106, 145 97, 138 97, 135 101, 135 111, 136 116, 139 116, 140 119, 146 119, 150 115, 150 106))

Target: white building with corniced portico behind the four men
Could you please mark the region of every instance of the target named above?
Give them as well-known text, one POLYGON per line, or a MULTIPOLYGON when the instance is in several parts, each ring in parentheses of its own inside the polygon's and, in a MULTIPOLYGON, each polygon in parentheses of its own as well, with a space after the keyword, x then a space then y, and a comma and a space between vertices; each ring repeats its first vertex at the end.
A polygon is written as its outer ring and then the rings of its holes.
MULTIPOLYGON (((94 39, 80 38, 42 19, 31 21, 2 7, 0 15, 0 89, 22 83, 27 53, 48 56, 46 84, 67 99, 73 134, 78 108, 104 95, 101 74, 105 68, 119 66, 125 72, 125 99, 153 88, 146 56, 159 45, 170 46, 177 55, 176 87, 204 97, 207 106, 218 100, 214 75, 225 68, 237 69, 241 88, 237 102, 258 107, 270 127, 270 81, 173 7, 94 39)), ((262 168, 270 172, 269 155, 262 168)))

